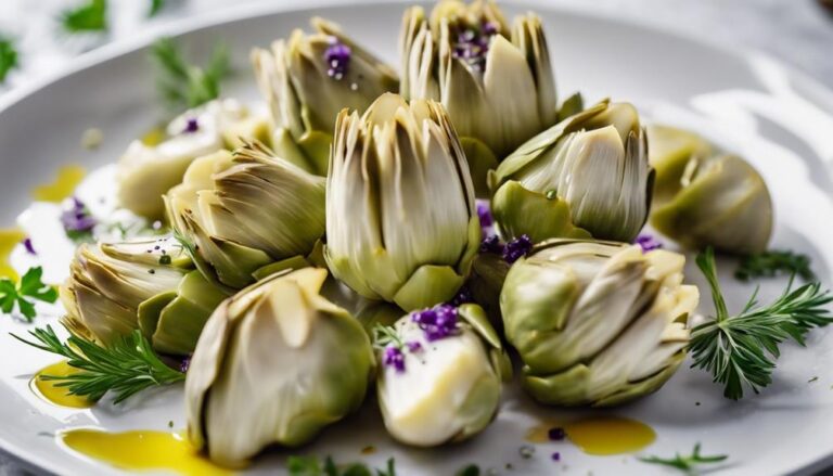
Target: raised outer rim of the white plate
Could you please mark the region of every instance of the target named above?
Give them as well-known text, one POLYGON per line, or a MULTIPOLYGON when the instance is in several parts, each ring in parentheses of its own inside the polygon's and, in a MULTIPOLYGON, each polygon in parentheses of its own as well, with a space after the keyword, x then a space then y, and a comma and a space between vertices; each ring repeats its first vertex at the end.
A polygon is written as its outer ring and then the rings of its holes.
MULTIPOLYGON (((768 64, 778 67, 794 85, 800 87, 795 91, 796 94, 802 97, 810 95, 817 107, 822 110, 826 115, 833 117, 833 85, 828 87, 820 79, 811 76, 804 69, 787 64, 768 52, 751 47, 729 44, 728 42, 716 38, 699 36, 693 31, 677 30, 666 23, 653 22, 646 17, 618 17, 608 10, 594 9, 592 2, 573 2, 571 0, 500 0, 500 3, 517 8, 536 9, 537 11, 547 11, 554 14, 565 12, 597 21, 637 27, 641 30, 672 37, 718 51, 746 65, 751 63, 752 59, 765 61, 768 64)), ((23 86, 17 86, 11 91, 4 92, 0 95, 0 116, 8 114, 11 108, 23 103, 49 86, 123 55, 142 50, 161 36, 176 38, 226 24, 245 22, 260 16, 279 15, 282 13, 312 11, 320 8, 345 8, 351 5, 368 7, 374 4, 422 4, 423 7, 427 7, 432 3, 424 0, 283 0, 280 3, 255 1, 245 5, 218 8, 217 10, 207 13, 177 18, 162 25, 150 25, 139 35, 133 35, 129 38, 106 43, 85 52, 75 56, 71 64, 62 67, 60 70, 40 76, 29 80, 23 86)), ((831 194, 833 195, 833 191, 831 191, 831 194)), ((2 436, 0 436, 0 454, 27 471, 54 475, 64 474, 63 469, 65 468, 53 464, 51 460, 44 459, 39 452, 30 451, 2 436)), ((802 467, 795 468, 792 474, 813 474, 831 466, 833 466, 833 448, 831 448, 825 456, 821 456, 802 467)))

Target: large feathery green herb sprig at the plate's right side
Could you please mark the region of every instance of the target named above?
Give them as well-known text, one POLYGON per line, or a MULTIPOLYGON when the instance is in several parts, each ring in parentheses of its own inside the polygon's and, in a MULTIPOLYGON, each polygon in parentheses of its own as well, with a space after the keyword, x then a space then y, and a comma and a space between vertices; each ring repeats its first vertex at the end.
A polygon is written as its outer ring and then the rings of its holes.
POLYGON ((792 279, 784 293, 769 306, 758 305, 756 290, 741 313, 730 316, 712 248, 701 253, 696 261, 712 288, 717 316, 691 332, 692 366, 710 372, 715 382, 725 385, 727 398, 742 398, 745 386, 757 394, 772 382, 779 344, 792 338, 804 345, 810 330, 833 322, 826 309, 833 301, 830 291, 822 292, 819 283, 792 291, 792 279))

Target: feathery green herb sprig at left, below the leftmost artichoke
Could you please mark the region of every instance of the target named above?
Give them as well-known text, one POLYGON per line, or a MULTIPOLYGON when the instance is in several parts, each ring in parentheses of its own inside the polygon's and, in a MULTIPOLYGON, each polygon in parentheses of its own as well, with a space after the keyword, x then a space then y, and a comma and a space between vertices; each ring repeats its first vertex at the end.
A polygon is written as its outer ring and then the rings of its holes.
POLYGON ((57 382, 57 387, 66 387, 71 395, 99 400, 107 391, 113 391, 115 402, 119 403, 146 388, 185 378, 185 374, 159 360, 138 330, 107 347, 75 335, 62 343, 50 325, 29 331, 29 335, 35 340, 26 340, 15 334, 12 337, 47 352, 63 356, 69 366, 80 370, 67 376, 41 376, 57 382))

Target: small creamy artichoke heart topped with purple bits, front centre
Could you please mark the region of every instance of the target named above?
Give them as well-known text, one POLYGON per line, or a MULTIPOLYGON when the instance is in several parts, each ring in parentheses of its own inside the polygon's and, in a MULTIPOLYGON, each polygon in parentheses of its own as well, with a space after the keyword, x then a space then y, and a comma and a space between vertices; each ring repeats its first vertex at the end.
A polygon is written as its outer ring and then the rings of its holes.
POLYGON ((434 447, 469 439, 494 420, 511 364, 483 309, 443 305, 377 327, 376 391, 397 440, 434 447))

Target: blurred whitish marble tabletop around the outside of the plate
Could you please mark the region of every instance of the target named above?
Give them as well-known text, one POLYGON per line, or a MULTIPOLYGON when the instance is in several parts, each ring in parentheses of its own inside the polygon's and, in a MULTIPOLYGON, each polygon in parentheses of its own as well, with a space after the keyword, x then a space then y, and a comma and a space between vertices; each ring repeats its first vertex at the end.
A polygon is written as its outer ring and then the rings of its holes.
MULTIPOLYGON (((275 0, 280 1, 280 0, 275 0)), ((508 1, 508 0, 507 0, 508 1)), ((587 0, 575 0, 577 2, 587 0)), ((223 0, 168 0, 163 14, 146 21, 148 2, 111 0, 113 29, 108 38, 67 38, 55 35, 55 12, 66 0, 2 0, 0 33, 18 38, 23 68, 0 86, 0 97, 42 75, 54 74, 101 41, 119 41, 140 27, 157 28, 182 15, 230 8, 223 0)), ((262 0, 238 0, 256 3, 262 0)), ((728 46, 765 51, 833 88, 833 14, 816 0, 593 0, 599 9, 666 28, 679 28, 728 46)), ((75 2, 77 3, 77 2, 75 2)), ((0 453, 0 476, 33 474, 30 468, 0 453)), ((828 473, 825 473, 828 474, 828 473)))

